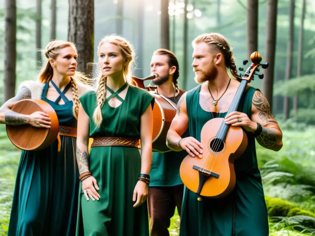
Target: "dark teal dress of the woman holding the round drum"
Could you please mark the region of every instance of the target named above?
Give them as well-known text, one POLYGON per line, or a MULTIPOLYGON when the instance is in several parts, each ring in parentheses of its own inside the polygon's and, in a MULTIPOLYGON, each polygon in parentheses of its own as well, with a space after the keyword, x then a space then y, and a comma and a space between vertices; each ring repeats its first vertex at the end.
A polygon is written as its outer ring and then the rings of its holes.
MULTIPOLYGON (((56 101, 42 100, 56 111, 59 125, 77 127, 72 114, 73 102, 61 93, 56 101), (60 99, 65 104, 58 104, 60 99)), ((58 87, 57 87, 58 88, 58 87)), ((39 151, 22 151, 13 195, 8 236, 70 236, 76 232, 79 170, 76 138, 60 135, 51 146, 39 151)))

